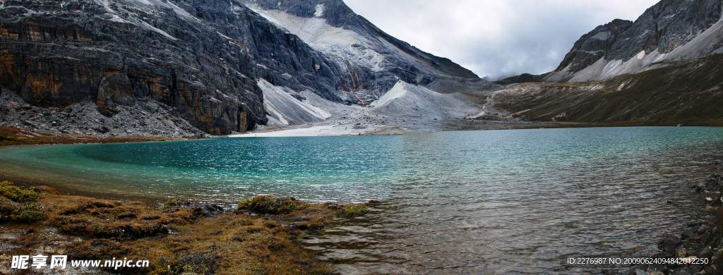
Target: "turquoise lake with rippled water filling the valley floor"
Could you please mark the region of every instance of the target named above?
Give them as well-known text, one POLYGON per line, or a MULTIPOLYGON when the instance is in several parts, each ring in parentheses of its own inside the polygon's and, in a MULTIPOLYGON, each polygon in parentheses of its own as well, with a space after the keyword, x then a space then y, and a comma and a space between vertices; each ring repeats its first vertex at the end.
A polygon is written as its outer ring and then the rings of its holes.
POLYGON ((571 128, 0 148, 0 177, 108 197, 382 201, 306 246, 343 274, 579 274, 703 216, 723 128, 571 128), (672 204, 668 204, 670 201, 672 204), (695 210, 692 210, 695 209, 695 210))

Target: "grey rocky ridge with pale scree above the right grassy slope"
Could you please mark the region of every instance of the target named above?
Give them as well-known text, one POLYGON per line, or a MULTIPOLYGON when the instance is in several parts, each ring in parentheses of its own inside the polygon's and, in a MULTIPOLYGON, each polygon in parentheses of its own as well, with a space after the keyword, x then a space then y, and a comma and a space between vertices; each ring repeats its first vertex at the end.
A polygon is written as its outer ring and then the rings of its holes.
POLYGON ((659 1, 632 24, 615 20, 583 35, 544 80, 606 79, 709 56, 723 45, 721 9, 721 0, 659 1))

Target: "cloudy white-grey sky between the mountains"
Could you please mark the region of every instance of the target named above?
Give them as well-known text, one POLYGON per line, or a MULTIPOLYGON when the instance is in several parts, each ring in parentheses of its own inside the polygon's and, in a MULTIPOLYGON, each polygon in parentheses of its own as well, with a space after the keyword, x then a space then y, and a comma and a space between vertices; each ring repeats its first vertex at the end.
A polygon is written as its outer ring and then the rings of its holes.
POLYGON ((552 71, 582 35, 658 1, 344 0, 390 35, 491 79, 552 71))

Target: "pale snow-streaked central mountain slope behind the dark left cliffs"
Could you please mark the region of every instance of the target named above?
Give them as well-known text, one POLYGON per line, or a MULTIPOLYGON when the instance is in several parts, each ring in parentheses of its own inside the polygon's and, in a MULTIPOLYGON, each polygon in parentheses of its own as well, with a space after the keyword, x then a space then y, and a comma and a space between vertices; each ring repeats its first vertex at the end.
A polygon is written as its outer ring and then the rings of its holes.
MULTIPOLYGON (((354 95, 362 105, 384 95, 399 79, 422 86, 436 82, 437 90, 446 90, 445 87, 466 79, 479 79, 447 58, 433 56, 391 37, 354 14, 341 0, 237 1, 335 61, 346 73, 340 89, 354 95)), ((474 85, 494 86, 486 81, 474 85)))

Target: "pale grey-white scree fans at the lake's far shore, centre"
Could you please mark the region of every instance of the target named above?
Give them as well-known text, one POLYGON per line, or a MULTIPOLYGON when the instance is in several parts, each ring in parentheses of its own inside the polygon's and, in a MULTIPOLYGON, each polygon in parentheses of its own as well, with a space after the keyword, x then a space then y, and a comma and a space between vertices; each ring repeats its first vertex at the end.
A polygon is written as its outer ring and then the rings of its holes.
POLYGON ((269 125, 229 137, 348 136, 401 134, 408 129, 440 131, 442 123, 479 113, 467 95, 440 94, 398 81, 367 107, 325 100, 310 91, 295 92, 261 79, 269 125))

